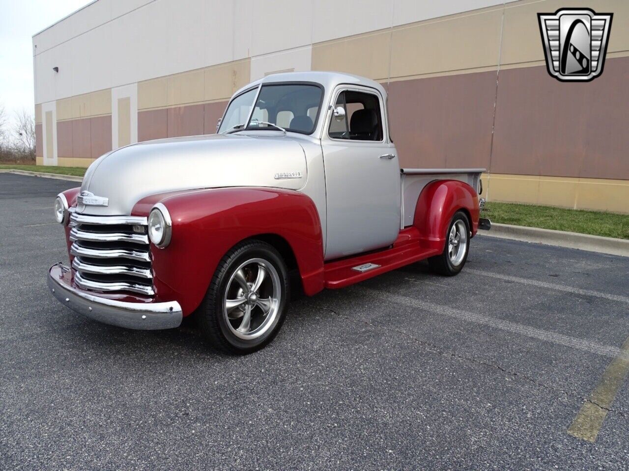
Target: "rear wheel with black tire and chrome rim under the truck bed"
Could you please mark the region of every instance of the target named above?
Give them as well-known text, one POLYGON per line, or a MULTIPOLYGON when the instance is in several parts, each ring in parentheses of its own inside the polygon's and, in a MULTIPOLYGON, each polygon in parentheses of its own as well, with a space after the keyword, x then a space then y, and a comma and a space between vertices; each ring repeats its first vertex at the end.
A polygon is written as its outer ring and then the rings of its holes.
POLYGON ((443 276, 454 276, 459 273, 469 252, 470 224, 467 215, 462 211, 455 212, 446 232, 445 247, 440 255, 430 257, 430 268, 443 276))

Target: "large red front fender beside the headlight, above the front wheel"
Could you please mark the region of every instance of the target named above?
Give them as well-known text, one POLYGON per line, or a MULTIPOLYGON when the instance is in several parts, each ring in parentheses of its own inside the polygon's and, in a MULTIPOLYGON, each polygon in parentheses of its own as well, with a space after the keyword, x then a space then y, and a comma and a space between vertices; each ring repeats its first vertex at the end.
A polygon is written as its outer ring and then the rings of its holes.
POLYGON ((315 203, 303 193, 277 188, 214 188, 143 198, 133 215, 165 205, 172 240, 165 249, 151 244, 158 300, 178 301, 184 315, 208 290, 221 258, 235 244, 261 234, 282 237, 295 255, 304 291, 323 289, 323 237, 315 203))

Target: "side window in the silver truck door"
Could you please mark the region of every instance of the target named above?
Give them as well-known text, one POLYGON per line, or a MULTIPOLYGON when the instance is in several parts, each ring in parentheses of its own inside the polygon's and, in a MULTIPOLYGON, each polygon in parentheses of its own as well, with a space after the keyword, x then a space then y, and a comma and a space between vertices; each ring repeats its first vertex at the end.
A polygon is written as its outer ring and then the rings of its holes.
POLYGON ((333 139, 382 141, 382 112, 377 95, 347 90, 338 95, 335 107, 345 109, 340 121, 332 117, 328 134, 333 139))

